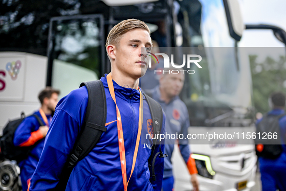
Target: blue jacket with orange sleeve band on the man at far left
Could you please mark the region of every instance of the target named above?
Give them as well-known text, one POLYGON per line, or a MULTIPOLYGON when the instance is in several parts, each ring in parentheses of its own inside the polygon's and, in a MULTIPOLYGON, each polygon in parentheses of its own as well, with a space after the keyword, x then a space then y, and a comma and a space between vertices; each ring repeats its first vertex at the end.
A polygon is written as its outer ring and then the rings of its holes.
MULTIPOLYGON (((33 114, 39 116, 39 118, 44 123, 44 120, 39 111, 36 111, 33 114)), ((46 115, 46 117, 47 119, 50 119, 51 115, 46 115)), ((48 120, 48 123, 50 123, 50 120, 48 120)), ((43 139, 43 135, 38 130, 39 127, 40 124, 37 119, 34 116, 29 116, 23 120, 23 122, 19 125, 14 134, 13 141, 15 146, 31 146, 38 140, 40 140, 36 143, 37 145, 31 150, 28 158, 19 162, 23 191, 27 191, 28 189, 27 181, 32 177, 44 147, 45 139, 43 139)))

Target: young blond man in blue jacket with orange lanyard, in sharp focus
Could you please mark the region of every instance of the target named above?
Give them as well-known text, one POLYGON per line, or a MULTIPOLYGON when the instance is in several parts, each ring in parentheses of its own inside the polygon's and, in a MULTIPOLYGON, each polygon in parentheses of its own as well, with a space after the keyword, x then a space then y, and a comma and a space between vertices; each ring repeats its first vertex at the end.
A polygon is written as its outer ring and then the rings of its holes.
MULTIPOLYGON (((111 62, 111 73, 101 78, 107 104, 106 131, 92 151, 75 164, 65 190, 161 191, 164 159, 155 159, 156 180, 153 180, 148 163, 151 149, 137 139, 139 129, 143 136, 151 119, 145 97, 138 89, 139 78, 148 66, 144 62, 146 51, 141 52, 141 48, 150 51, 152 47, 150 30, 140 20, 124 20, 111 29, 105 46, 111 62), (122 129, 118 130, 119 126, 122 129)), ((55 190, 84 124, 87 104, 85 86, 60 100, 30 181, 30 191, 55 190)), ((161 133, 165 133, 165 114, 161 133)), ((153 146, 154 152, 158 152, 159 145, 153 146)), ((164 150, 164 145, 161 148, 164 150)))

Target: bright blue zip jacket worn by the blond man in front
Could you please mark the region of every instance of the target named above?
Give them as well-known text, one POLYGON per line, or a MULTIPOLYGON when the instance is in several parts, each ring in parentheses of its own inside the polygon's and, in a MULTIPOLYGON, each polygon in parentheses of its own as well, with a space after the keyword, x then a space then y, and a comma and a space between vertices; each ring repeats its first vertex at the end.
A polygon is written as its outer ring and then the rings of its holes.
MULTIPOLYGON (((123 191, 120 165, 116 105, 110 96, 106 75, 101 78, 105 87, 107 126, 99 143, 79 161, 73 169, 66 191, 123 191)), ((139 120, 139 92, 124 88, 113 81, 115 96, 120 110, 126 155, 127 179, 130 177, 139 120)), ((57 105, 51 127, 45 139, 45 146, 34 172, 30 191, 47 191, 56 187, 60 173, 70 155, 78 132, 84 122, 88 92, 81 87, 63 97, 57 105)), ((95 108, 96 109, 96 108, 95 108)), ((165 114, 161 133, 165 133, 165 114)), ((143 127, 141 137, 147 132, 147 120, 151 119, 149 106, 143 100, 143 127)), ((141 141, 140 141, 141 142, 141 141)), ((164 145, 161 145, 164 149, 164 145)), ((158 152, 156 145, 155 152, 158 152)), ((164 159, 155 162, 156 181, 150 179, 148 159, 151 148, 139 143, 135 169, 128 184, 128 191, 161 191, 164 159)))

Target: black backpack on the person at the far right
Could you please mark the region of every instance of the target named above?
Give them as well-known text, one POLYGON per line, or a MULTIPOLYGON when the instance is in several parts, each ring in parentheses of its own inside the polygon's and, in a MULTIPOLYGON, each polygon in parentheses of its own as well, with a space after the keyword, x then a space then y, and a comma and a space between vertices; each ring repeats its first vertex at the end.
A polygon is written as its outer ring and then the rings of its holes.
POLYGON ((262 120, 256 125, 256 155, 267 159, 276 159, 283 152, 281 145, 281 133, 279 119, 286 114, 263 116, 262 120), (260 133, 260 139, 257 135, 260 133), (268 133, 271 133, 272 139, 268 139, 268 133), (273 133, 277 133, 277 139, 273 139, 273 133), (266 139, 262 139, 266 138, 266 139))

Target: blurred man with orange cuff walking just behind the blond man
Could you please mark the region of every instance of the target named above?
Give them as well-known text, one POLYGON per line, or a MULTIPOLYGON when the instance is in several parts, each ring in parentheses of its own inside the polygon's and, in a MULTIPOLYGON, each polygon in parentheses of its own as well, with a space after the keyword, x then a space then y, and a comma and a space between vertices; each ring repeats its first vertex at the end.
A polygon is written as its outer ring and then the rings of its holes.
MULTIPOLYGON (((172 74, 170 71, 177 70, 175 67, 165 68, 161 75, 159 85, 152 90, 146 91, 154 100, 158 101, 166 113, 166 133, 183 134, 187 137, 188 127, 190 126, 189 114, 186 105, 181 101, 179 94, 184 84, 184 74, 172 74)), ((164 163, 163 191, 173 191, 174 177, 172 173, 171 157, 176 140, 165 140, 165 154, 168 157, 164 163)), ((197 169, 195 159, 191 158, 191 151, 188 145, 188 139, 179 140, 181 156, 186 162, 187 168, 191 174, 193 191, 198 191, 197 169)))

